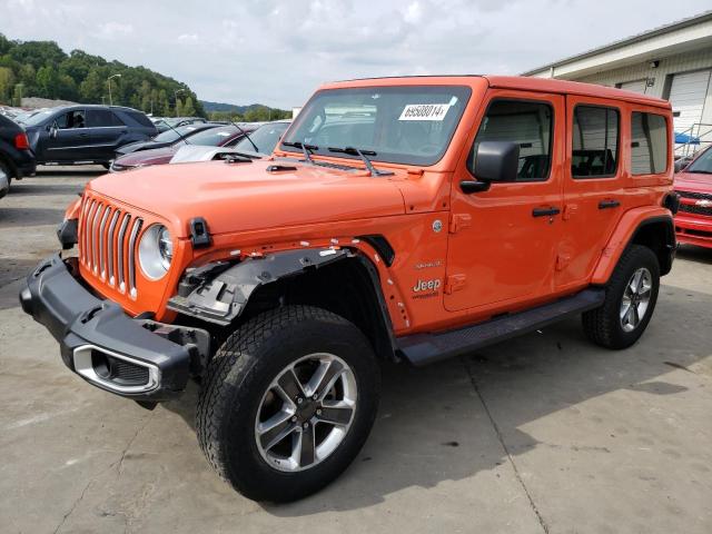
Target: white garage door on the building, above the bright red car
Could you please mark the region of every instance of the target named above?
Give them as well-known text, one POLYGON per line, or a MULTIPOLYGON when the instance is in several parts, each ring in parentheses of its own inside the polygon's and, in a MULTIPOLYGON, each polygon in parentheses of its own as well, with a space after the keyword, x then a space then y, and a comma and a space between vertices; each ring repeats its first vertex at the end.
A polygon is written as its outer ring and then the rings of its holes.
MULTIPOLYGON (((670 103, 675 121, 675 131, 690 134, 692 125, 702 122, 704 99, 710 87, 710 70, 674 75, 670 86, 670 103)), ((696 135, 696 131, 693 132, 696 135)))

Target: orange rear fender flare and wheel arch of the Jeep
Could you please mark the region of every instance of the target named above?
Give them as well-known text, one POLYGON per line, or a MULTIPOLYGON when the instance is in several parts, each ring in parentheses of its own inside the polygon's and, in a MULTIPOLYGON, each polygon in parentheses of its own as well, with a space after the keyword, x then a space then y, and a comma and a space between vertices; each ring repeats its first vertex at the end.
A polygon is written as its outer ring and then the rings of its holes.
POLYGON ((609 281, 623 251, 630 245, 642 245, 655 253, 661 276, 672 269, 676 249, 675 225, 665 208, 635 208, 623 215, 617 229, 603 249, 592 277, 592 284, 609 281))

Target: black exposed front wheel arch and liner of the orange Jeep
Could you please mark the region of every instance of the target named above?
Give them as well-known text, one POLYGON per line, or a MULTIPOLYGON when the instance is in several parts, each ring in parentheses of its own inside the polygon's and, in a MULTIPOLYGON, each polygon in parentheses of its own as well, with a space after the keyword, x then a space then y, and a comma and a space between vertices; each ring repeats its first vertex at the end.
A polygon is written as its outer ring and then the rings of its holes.
POLYGON ((196 288, 168 303, 174 312, 233 330, 284 305, 324 308, 358 327, 375 354, 395 358, 396 343, 380 277, 358 249, 286 250, 207 271, 196 288), (218 316, 220 308, 228 313, 218 316))

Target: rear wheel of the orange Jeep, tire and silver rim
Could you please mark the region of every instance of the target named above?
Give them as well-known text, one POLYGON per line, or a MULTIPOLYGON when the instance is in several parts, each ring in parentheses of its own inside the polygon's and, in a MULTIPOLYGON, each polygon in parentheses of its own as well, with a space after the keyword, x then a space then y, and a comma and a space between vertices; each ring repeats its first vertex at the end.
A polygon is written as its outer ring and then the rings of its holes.
POLYGON ((583 314, 586 335, 606 348, 630 347, 647 327, 659 289, 657 257, 647 247, 630 246, 611 276, 603 306, 583 314))

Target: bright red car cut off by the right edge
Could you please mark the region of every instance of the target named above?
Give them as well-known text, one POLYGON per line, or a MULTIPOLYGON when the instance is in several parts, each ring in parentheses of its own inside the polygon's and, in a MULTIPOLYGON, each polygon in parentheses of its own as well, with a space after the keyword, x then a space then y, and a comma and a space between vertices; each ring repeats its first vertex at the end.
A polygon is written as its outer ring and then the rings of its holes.
POLYGON ((712 147, 675 175, 675 191, 680 195, 678 243, 712 248, 712 147))

